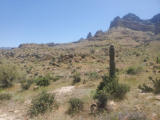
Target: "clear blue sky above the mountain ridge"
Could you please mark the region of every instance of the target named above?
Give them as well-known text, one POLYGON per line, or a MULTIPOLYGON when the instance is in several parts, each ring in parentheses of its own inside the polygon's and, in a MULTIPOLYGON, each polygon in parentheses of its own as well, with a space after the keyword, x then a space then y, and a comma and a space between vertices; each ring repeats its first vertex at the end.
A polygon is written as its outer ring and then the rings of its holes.
POLYGON ((160 0, 0 0, 0 47, 77 41, 127 13, 149 19, 160 0))

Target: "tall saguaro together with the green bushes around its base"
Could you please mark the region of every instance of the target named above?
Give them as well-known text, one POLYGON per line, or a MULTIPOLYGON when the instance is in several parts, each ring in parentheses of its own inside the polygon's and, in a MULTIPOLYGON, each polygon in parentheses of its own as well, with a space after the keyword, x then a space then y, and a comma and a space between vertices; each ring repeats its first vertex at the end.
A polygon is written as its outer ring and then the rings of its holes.
POLYGON ((116 77, 116 65, 115 65, 115 50, 114 46, 110 46, 110 69, 109 76, 102 76, 103 81, 97 88, 94 99, 97 99, 98 108, 106 108, 108 99, 123 99, 125 94, 129 91, 129 87, 125 84, 118 82, 116 77))

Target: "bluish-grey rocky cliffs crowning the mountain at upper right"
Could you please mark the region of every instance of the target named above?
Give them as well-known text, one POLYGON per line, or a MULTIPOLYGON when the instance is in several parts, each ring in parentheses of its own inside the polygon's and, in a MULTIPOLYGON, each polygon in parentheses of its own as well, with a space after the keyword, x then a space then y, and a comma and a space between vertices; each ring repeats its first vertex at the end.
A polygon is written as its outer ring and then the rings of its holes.
POLYGON ((113 27, 125 27, 137 31, 151 31, 154 33, 160 33, 160 14, 155 15, 149 20, 142 20, 135 14, 129 13, 123 18, 116 17, 110 25, 113 27))

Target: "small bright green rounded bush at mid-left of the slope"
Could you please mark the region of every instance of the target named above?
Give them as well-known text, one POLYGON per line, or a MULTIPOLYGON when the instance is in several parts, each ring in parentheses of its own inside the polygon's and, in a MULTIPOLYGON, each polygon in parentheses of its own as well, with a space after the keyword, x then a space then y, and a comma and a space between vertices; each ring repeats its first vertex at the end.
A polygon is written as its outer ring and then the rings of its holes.
POLYGON ((40 76, 35 82, 38 86, 48 86, 50 84, 50 79, 47 76, 40 76))

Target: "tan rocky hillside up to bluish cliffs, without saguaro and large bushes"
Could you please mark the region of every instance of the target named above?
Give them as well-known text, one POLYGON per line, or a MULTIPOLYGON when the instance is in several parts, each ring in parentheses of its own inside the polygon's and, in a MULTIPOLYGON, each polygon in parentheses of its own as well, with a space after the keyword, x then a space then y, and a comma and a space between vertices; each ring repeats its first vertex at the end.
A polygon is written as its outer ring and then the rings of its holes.
POLYGON ((18 78, 10 88, 0 89, 0 120, 160 120, 160 95, 138 89, 144 83, 150 85, 149 79, 160 78, 160 34, 155 34, 159 16, 141 20, 130 14, 117 19, 120 22, 114 20, 108 31, 99 30, 74 43, 0 49, 0 70, 12 68, 9 74, 16 71, 18 78), (130 92, 122 101, 109 99, 107 112, 91 114, 93 94, 102 76, 108 75, 110 45, 115 46, 119 82, 128 85, 130 92), (75 75, 80 78, 77 83, 75 75), (40 86, 41 80, 49 81, 48 86, 40 86), (54 94, 57 103, 53 110, 30 118, 32 100, 43 90, 54 94), (71 98, 84 103, 74 116, 67 113, 71 98))

